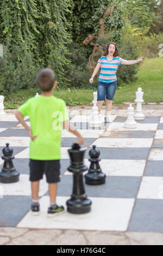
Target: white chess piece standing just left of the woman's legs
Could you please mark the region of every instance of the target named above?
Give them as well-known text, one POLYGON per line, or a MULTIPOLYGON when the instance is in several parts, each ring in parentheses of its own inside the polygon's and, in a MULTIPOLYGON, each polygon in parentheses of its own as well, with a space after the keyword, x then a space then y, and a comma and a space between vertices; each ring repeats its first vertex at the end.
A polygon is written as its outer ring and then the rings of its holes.
POLYGON ((102 126, 102 121, 101 118, 98 114, 98 107, 96 106, 97 104, 97 92, 93 93, 93 107, 92 107, 92 113, 90 115, 90 127, 101 127, 102 126))

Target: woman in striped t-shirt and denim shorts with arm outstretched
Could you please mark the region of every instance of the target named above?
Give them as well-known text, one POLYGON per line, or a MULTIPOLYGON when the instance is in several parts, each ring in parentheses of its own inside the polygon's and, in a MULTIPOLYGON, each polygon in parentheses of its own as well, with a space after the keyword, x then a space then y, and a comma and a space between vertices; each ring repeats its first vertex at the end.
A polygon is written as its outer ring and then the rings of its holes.
POLYGON ((136 64, 143 60, 143 57, 140 57, 137 60, 125 60, 118 56, 119 53, 116 44, 114 42, 110 42, 110 44, 106 46, 104 55, 98 60, 97 66, 89 80, 90 83, 93 83, 94 77, 101 68, 97 87, 97 107, 100 113, 106 95, 105 123, 110 123, 112 99, 117 88, 116 71, 118 66, 121 64, 136 64))

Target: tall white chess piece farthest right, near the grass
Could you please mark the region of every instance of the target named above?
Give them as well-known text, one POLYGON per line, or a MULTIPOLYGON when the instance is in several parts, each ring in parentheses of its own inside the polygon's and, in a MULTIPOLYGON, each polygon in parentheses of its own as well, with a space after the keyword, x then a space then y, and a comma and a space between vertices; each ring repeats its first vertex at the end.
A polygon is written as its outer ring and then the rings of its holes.
POLYGON ((139 87, 137 89, 137 92, 136 92, 136 112, 134 114, 134 118, 135 120, 144 120, 145 119, 145 115, 142 113, 142 103, 144 102, 143 101, 143 92, 142 92, 142 89, 141 87, 139 87))

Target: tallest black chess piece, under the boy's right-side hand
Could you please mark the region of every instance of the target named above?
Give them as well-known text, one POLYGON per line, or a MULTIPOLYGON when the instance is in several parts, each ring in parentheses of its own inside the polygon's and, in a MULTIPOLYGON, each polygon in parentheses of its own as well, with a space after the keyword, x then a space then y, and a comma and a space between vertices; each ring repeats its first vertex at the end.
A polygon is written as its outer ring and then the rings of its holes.
POLYGON ((68 149, 71 159, 71 165, 68 167, 69 172, 73 173, 73 190, 69 200, 67 200, 67 211, 71 214, 86 214, 91 211, 91 200, 85 194, 83 172, 87 170, 84 165, 85 149, 81 149, 78 144, 73 144, 68 149))

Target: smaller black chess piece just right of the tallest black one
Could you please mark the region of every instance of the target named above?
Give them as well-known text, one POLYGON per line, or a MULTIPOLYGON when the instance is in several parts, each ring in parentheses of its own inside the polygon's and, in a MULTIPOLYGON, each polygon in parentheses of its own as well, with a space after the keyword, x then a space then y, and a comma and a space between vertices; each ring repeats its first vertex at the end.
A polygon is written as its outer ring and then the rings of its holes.
POLYGON ((96 145, 93 145, 92 149, 89 151, 91 162, 88 173, 84 175, 85 183, 88 185, 101 185, 105 183, 106 175, 102 173, 102 169, 99 166, 100 151, 96 149, 96 145))

